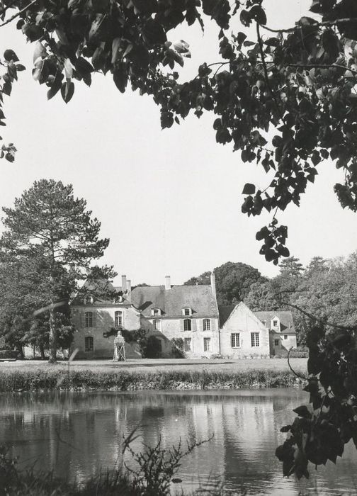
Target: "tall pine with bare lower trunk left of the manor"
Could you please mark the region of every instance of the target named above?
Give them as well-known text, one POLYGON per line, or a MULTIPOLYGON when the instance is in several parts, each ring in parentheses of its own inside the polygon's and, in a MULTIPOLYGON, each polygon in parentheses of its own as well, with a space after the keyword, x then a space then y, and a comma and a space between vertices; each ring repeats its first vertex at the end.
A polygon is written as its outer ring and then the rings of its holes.
MULTIPOLYGON (((91 218, 86 201, 74 198, 72 185, 61 181, 35 181, 13 208, 3 208, 4 234, 1 259, 28 260, 38 267, 40 286, 31 291, 46 295, 50 327, 50 363, 57 359, 56 308, 68 303, 79 281, 91 272, 91 264, 103 256, 109 239, 101 239, 101 223, 91 218)), ((96 274, 112 276, 104 267, 96 274)))

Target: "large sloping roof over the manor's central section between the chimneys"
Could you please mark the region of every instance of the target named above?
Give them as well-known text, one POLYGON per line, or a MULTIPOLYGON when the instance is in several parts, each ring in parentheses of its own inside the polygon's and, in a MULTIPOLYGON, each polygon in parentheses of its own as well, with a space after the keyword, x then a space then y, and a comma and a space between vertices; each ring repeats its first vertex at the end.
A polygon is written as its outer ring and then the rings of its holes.
POLYGON ((132 289, 132 305, 145 317, 151 317, 152 308, 162 310, 162 317, 182 317, 183 308, 191 308, 193 317, 217 317, 218 309, 212 288, 198 286, 140 286, 132 289))

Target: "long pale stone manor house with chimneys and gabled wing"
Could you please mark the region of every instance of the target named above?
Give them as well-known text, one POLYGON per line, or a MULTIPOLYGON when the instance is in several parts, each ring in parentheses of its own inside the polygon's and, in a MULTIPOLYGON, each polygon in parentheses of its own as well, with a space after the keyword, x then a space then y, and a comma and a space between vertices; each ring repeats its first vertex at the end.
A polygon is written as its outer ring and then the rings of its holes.
MULTIPOLYGON (((122 276, 122 286, 110 286, 122 296, 106 300, 86 288, 86 297, 74 298, 75 327, 72 349, 78 358, 113 358, 113 329, 145 329, 156 338, 159 356, 173 356, 181 342, 188 358, 214 355, 232 358, 268 358, 296 347, 291 312, 251 312, 244 303, 218 306, 215 275, 209 285, 136 286, 122 276)), ((125 344, 128 358, 140 358, 137 344, 125 344)))

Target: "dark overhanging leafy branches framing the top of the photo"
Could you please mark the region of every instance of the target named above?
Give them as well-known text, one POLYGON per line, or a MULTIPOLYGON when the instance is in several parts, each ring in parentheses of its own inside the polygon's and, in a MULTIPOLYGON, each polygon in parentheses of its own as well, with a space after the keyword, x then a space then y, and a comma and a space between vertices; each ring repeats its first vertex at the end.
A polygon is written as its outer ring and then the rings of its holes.
MULTIPOLYGON (((342 207, 357 210, 357 5, 312 0, 311 17, 280 30, 269 28, 263 7, 263 0, 3 0, 0 17, 34 43, 33 77, 48 98, 60 94, 68 103, 75 81, 90 85, 102 72, 121 92, 130 85, 151 95, 163 128, 189 113, 213 112, 217 142, 231 143, 243 162, 259 163, 267 174, 263 190, 244 186, 242 212, 271 212, 256 239, 266 260, 278 264, 289 251, 288 229, 276 214, 300 205, 324 159, 344 171, 334 187, 342 207), (191 55, 188 43, 171 43, 168 34, 195 22, 219 26, 222 58, 181 81, 176 69, 191 55), (250 39, 249 26, 256 31, 250 39)), ((3 63, 0 103, 23 70, 11 48, 3 63)), ((14 151, 4 145, 1 155, 12 161, 14 151)))

